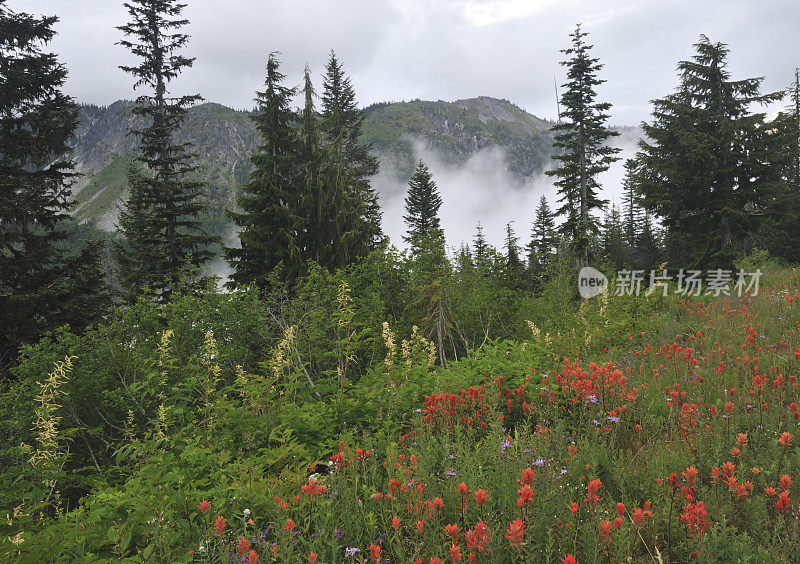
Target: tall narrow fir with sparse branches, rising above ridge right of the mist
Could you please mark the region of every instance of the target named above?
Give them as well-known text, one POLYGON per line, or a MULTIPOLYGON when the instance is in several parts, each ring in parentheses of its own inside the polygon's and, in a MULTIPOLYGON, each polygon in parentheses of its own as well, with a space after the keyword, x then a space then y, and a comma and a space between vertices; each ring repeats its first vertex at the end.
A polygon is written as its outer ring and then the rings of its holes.
POLYGON ((618 133, 605 126, 611 104, 595 102, 595 87, 605 82, 597 78, 603 65, 589 56, 592 46, 584 42, 586 35, 580 25, 576 26, 570 35, 572 46, 561 51, 570 56, 561 62, 567 67, 568 78, 561 95, 563 121, 553 126, 553 145, 560 149, 553 158, 561 165, 546 173, 558 177, 555 185, 562 203, 558 215, 566 218, 561 230, 572 239, 581 266, 589 264, 589 247, 598 232, 592 212, 606 203, 598 196, 597 175, 618 160, 614 155, 619 152, 607 145, 618 133))

